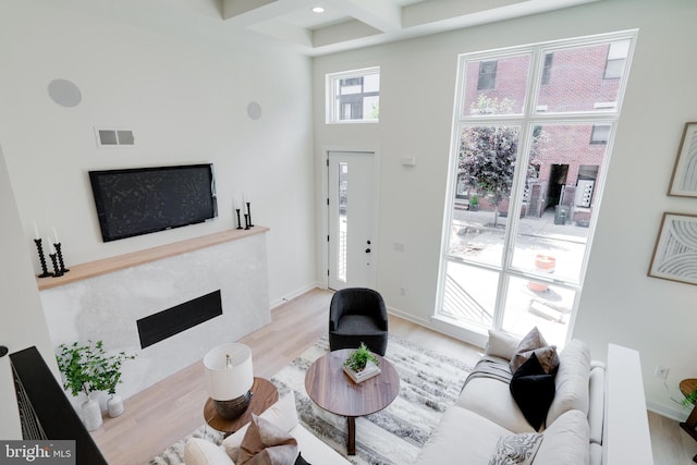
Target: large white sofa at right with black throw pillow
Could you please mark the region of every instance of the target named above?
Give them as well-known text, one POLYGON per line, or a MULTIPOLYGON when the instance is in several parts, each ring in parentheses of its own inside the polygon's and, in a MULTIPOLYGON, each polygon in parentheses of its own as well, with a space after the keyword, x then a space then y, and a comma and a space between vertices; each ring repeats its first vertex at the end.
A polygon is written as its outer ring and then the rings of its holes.
MULTIPOLYGON (((506 366, 517 340, 490 331, 484 358, 506 366)), ((508 382, 469 380, 421 450, 417 464, 533 463, 535 465, 650 465, 648 418, 636 351, 610 344, 608 364, 591 362, 588 346, 571 341, 560 354, 555 393, 533 461, 497 462, 503 438, 536 433, 508 382)), ((529 438, 529 435, 528 435, 529 438)), ((538 438, 539 440, 539 438, 538 438)))

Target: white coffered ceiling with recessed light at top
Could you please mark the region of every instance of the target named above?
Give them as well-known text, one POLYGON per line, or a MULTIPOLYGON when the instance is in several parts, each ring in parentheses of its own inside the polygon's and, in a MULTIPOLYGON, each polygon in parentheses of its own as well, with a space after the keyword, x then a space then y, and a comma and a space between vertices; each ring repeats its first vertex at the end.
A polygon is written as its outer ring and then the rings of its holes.
POLYGON ((319 56, 599 0, 222 0, 223 21, 319 56), (321 7, 322 13, 313 9, 321 7))

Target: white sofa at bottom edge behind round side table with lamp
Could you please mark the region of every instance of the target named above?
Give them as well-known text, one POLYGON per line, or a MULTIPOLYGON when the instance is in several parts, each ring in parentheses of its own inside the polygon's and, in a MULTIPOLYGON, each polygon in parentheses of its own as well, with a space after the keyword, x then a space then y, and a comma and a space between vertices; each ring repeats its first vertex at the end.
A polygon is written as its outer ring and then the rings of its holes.
MULTIPOLYGON (((295 438, 297 449, 307 463, 311 465, 351 464, 299 424, 295 409, 295 396, 292 391, 259 416, 295 438)), ((247 427, 248 425, 230 435, 221 445, 216 445, 204 439, 189 439, 184 448, 184 463, 186 465, 234 465, 233 457, 236 456, 236 449, 240 448, 247 427)))

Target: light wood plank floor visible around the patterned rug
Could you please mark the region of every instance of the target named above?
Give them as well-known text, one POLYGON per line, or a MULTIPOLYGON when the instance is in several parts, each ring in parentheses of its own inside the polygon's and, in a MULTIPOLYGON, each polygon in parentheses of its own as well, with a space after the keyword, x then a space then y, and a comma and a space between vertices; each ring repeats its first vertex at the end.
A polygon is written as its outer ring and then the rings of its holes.
MULTIPOLYGON (((315 289, 272 311, 272 322, 240 340, 252 347, 255 376, 271 378, 327 331, 331 292, 315 289)), ((390 316, 390 333, 474 365, 480 352, 463 342, 390 316)), ((125 401, 125 413, 105 418, 93 437, 111 465, 146 464, 204 424, 207 399, 195 364, 125 401)), ((677 421, 649 413, 656 465, 689 464, 697 442, 677 421)))

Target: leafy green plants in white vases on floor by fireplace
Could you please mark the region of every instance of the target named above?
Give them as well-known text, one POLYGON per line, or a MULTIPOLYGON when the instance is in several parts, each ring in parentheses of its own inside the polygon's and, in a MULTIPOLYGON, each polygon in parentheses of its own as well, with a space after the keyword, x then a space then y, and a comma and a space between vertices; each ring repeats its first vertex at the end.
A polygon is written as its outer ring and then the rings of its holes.
MULTIPOLYGON (((82 404, 83 421, 88 430, 101 426, 99 403, 89 394, 106 391, 111 394, 109 415, 123 413, 123 402, 117 396, 117 384, 121 382, 121 366, 125 360, 135 358, 125 352, 107 355, 102 341, 87 341, 86 344, 73 342, 71 345, 59 345, 56 356, 58 368, 63 374, 63 388, 74 396, 84 393, 87 400, 82 404)), ((109 404, 108 403, 108 404, 109 404)))

